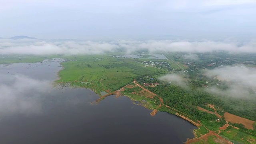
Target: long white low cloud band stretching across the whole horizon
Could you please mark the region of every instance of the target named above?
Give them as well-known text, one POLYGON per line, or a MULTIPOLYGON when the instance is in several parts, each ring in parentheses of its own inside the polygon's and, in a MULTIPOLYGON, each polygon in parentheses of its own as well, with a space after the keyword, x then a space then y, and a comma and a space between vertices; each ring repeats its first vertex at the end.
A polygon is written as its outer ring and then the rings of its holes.
MULTIPOLYGON (((102 54, 105 52, 124 51, 131 53, 137 50, 148 52, 212 52, 213 50, 225 50, 228 52, 256 52, 256 42, 246 44, 236 42, 215 41, 172 41, 172 40, 117 40, 110 42, 92 41, 44 41, 44 40, 0 40, 0 54, 102 54)), ((196 58, 188 55, 185 58, 196 58)))

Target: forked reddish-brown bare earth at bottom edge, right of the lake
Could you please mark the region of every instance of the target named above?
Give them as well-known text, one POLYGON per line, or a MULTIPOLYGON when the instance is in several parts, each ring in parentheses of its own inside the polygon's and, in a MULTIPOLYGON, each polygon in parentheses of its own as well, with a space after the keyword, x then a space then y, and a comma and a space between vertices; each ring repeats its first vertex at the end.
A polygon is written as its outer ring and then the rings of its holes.
POLYGON ((209 133, 201 136, 200 138, 188 139, 186 141, 186 144, 193 144, 194 142, 198 142, 200 140, 204 140, 204 142, 207 142, 208 137, 212 136, 212 135, 217 137, 217 138, 214 138, 214 142, 216 142, 218 144, 233 144, 232 142, 226 140, 225 138, 222 138, 221 136, 219 136, 218 134, 216 134, 213 131, 210 131, 209 133))

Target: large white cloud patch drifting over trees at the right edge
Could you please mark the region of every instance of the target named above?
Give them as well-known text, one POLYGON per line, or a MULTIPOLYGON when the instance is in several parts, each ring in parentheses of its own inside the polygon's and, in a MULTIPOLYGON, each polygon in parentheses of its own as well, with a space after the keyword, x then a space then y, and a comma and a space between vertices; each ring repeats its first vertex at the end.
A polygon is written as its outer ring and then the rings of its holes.
POLYGON ((255 68, 248 68, 241 64, 222 66, 213 70, 208 70, 207 76, 216 77, 219 80, 226 81, 225 85, 228 86, 226 90, 222 90, 216 86, 207 89, 208 92, 218 95, 231 96, 235 98, 250 98, 252 97, 252 94, 249 89, 254 91, 256 90, 255 68))

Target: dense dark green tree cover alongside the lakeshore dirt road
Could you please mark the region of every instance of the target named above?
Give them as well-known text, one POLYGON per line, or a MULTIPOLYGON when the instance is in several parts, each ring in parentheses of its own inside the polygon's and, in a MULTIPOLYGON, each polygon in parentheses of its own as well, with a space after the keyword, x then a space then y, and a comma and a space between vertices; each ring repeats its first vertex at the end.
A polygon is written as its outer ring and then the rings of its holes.
POLYGON ((164 104, 200 120, 210 130, 217 130, 226 124, 224 119, 218 121, 216 115, 198 110, 196 106, 211 100, 204 92, 185 90, 175 84, 147 88, 160 96, 164 104))

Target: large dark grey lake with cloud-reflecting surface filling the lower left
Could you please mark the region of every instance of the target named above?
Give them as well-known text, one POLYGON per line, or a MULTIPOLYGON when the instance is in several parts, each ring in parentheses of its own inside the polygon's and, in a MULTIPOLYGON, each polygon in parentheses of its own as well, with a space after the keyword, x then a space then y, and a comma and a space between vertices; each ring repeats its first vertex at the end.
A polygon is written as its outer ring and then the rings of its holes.
POLYGON ((126 96, 100 103, 92 90, 53 88, 62 60, 0 65, 0 144, 182 144, 190 122, 151 116, 126 96))

